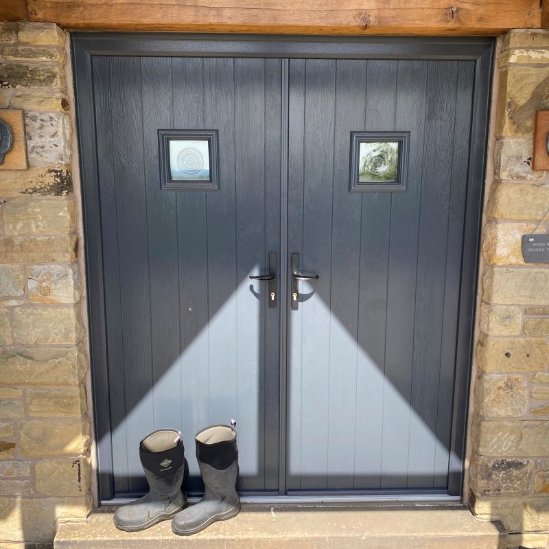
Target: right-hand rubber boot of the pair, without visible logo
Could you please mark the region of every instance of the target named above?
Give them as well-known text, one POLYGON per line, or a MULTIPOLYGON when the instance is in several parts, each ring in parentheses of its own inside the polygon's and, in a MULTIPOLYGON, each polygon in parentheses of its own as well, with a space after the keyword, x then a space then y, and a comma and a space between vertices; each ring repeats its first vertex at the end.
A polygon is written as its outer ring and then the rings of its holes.
POLYGON ((196 457, 204 480, 204 497, 178 513, 172 530, 181 536, 196 534, 218 520, 240 511, 236 491, 238 449, 236 432, 227 425, 213 425, 196 435, 196 457))

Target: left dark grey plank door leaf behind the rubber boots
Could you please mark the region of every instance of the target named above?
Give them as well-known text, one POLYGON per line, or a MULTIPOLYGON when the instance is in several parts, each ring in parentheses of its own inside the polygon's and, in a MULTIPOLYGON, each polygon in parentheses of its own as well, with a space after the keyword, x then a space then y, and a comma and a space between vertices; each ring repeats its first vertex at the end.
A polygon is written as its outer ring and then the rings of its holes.
POLYGON ((115 494, 148 432, 236 419, 240 487, 278 488, 281 60, 93 58, 115 494), (215 129, 219 191, 161 191, 161 128, 215 129))

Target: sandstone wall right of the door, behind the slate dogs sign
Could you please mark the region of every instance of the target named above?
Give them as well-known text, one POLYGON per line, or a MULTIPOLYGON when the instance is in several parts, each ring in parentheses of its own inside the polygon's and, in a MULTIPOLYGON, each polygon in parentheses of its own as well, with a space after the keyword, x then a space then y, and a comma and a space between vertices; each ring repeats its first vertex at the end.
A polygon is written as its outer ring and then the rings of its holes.
MULTIPOLYGON (((549 109, 549 30, 517 30, 495 67, 493 180, 482 237, 470 486, 509 547, 549 542, 549 266, 524 264, 522 235, 549 209, 549 174, 531 167, 535 111, 549 109), (494 131, 495 130, 495 131, 494 131)), ((549 219, 539 232, 547 232, 549 219)))

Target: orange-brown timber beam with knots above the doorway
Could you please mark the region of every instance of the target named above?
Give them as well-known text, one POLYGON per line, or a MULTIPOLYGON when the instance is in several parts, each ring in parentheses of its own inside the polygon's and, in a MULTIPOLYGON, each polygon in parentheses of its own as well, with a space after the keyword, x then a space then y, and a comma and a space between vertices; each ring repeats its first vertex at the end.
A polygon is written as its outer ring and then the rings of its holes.
POLYGON ((540 0, 27 0, 27 14, 79 30, 455 36, 541 27, 540 0))

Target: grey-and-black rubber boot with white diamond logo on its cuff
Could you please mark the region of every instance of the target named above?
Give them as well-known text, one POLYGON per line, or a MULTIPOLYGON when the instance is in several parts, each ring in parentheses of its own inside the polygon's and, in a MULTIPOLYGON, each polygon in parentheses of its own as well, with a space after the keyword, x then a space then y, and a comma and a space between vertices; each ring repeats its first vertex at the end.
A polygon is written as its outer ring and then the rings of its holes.
POLYGON ((145 530, 171 519, 187 503, 187 496, 181 491, 187 460, 180 432, 162 429, 145 436, 139 443, 139 458, 149 492, 119 507, 114 516, 115 526, 127 532, 145 530))

